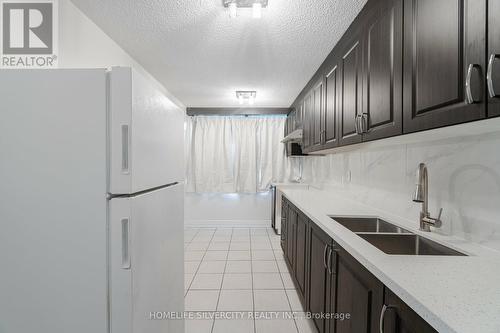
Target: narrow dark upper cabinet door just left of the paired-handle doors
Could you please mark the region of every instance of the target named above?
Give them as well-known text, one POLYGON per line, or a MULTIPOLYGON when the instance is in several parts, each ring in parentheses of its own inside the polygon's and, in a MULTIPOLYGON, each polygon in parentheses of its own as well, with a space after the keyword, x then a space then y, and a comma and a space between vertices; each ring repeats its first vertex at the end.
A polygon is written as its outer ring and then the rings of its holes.
POLYGON ((323 147, 336 147, 339 143, 337 132, 337 110, 339 108, 340 92, 339 66, 335 65, 325 77, 325 104, 322 119, 323 147))

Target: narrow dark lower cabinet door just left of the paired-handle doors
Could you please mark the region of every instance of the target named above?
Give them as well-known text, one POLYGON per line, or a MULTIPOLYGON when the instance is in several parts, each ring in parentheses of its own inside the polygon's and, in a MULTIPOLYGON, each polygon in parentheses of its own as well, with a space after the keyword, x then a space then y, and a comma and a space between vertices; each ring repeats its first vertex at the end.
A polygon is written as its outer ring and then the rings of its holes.
POLYGON ((297 214, 295 235, 295 267, 294 275, 297 281, 297 290, 302 298, 306 294, 306 268, 307 268, 307 235, 309 233, 309 220, 304 214, 297 214))

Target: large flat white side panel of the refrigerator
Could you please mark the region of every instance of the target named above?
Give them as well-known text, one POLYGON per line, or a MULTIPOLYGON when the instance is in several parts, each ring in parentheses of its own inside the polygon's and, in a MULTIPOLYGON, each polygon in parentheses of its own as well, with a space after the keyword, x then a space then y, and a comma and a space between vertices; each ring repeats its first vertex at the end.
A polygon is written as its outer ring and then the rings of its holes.
POLYGON ((0 72, 0 332, 108 332, 106 71, 0 72))

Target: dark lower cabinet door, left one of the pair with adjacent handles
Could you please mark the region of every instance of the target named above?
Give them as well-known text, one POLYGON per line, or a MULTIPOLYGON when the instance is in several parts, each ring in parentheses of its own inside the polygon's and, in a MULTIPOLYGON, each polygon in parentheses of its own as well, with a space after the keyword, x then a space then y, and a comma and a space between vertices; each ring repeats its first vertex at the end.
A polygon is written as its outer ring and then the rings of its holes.
POLYGON ((310 223, 307 269, 307 310, 313 314, 313 322, 319 333, 327 332, 328 321, 322 315, 330 308, 331 274, 328 271, 327 257, 332 239, 314 223, 310 223))

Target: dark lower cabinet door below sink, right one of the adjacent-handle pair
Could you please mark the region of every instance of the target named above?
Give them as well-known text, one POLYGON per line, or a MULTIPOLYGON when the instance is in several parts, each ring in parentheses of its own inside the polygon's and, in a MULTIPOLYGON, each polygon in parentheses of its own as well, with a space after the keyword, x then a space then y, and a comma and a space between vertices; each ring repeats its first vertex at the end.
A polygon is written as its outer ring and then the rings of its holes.
POLYGON ((337 320, 337 333, 377 332, 384 302, 384 285, 349 253, 337 251, 337 313, 350 314, 337 320))

